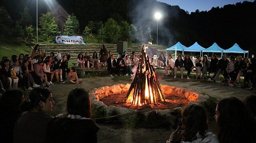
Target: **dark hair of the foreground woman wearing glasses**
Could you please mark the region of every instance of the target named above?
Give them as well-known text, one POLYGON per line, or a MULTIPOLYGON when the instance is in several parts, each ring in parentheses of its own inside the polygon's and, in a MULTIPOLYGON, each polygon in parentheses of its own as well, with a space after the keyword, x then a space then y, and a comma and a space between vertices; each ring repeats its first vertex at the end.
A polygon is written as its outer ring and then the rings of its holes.
POLYGON ((51 93, 52 92, 50 90, 40 87, 32 89, 29 94, 29 100, 24 101, 24 103, 21 105, 22 112, 30 111, 32 108, 38 108, 40 110, 41 108, 39 106, 39 102, 46 102, 46 99, 51 93))

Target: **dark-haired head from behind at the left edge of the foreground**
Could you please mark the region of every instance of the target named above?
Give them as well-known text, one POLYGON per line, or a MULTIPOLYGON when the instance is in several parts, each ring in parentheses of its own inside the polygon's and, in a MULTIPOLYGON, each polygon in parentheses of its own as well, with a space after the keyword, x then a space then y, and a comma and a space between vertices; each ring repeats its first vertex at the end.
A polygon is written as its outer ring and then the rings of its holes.
POLYGON ((0 97, 1 114, 3 114, 3 112, 10 115, 21 113, 20 104, 23 99, 23 92, 19 89, 9 89, 5 91, 0 97))

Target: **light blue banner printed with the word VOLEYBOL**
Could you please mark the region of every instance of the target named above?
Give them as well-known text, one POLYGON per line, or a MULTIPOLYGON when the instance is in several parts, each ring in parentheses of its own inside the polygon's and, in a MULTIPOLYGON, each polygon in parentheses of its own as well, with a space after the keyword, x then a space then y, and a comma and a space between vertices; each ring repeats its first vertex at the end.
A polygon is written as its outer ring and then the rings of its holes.
POLYGON ((83 36, 57 35, 56 42, 58 44, 85 44, 83 42, 83 36))

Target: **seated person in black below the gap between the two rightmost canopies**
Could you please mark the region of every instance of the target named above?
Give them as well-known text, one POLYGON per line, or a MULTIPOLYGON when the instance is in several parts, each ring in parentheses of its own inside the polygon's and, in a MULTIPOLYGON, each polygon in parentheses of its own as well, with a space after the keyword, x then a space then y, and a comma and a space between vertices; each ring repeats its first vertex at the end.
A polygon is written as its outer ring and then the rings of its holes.
POLYGON ((224 81, 222 82, 228 82, 228 74, 226 72, 226 68, 228 66, 228 62, 229 60, 227 59, 226 55, 222 55, 221 59, 218 61, 217 63, 217 73, 213 79, 213 82, 215 83, 216 80, 218 80, 220 74, 222 74, 224 76, 224 81))

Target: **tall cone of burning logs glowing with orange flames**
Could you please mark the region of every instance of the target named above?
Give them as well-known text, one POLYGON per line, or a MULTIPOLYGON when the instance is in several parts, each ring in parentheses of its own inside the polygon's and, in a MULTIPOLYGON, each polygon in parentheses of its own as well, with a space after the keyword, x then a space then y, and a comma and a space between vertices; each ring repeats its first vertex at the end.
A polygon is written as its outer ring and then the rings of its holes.
POLYGON ((149 56, 146 54, 146 48, 143 45, 135 78, 127 93, 126 102, 132 105, 141 106, 165 101, 160 83, 157 79, 157 73, 149 62, 149 56))

